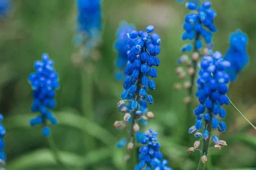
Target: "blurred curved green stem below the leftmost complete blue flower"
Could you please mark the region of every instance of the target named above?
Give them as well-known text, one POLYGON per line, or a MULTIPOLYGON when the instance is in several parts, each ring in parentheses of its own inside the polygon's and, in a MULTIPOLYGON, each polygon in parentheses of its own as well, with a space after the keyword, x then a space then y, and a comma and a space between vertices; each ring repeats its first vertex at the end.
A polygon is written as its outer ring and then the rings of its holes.
POLYGON ((65 170, 72 170, 71 168, 67 167, 67 165, 65 165, 60 158, 60 155, 58 153, 58 148, 55 145, 55 142, 52 138, 52 135, 47 137, 47 142, 49 144, 50 150, 52 152, 53 157, 55 158, 56 162, 61 165, 65 170))

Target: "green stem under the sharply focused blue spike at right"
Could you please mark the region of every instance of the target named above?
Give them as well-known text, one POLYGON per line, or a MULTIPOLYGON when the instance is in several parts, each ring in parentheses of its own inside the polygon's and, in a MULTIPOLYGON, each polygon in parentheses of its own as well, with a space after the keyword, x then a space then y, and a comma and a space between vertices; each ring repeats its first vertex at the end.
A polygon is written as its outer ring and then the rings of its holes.
MULTIPOLYGON (((204 127, 204 130, 208 130, 209 133, 211 133, 211 130, 212 130, 212 110, 209 110, 209 113, 210 113, 211 120, 206 123, 206 125, 204 127)), ((204 156, 204 155, 207 156, 208 151, 209 151, 209 144, 210 144, 210 135, 209 135, 209 138, 207 140, 204 140, 204 142, 203 142, 203 148, 202 148, 202 152, 201 152, 201 156, 200 156, 200 159, 199 159, 197 170, 204 170, 205 169, 206 163, 203 163, 201 161, 201 157, 204 156)))

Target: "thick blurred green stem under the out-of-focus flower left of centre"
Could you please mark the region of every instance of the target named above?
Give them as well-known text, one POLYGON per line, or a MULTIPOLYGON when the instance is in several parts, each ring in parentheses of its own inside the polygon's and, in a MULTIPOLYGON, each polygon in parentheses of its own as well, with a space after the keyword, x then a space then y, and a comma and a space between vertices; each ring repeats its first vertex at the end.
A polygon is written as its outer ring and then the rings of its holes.
MULTIPOLYGON (((93 74, 81 70, 81 112, 89 121, 94 122, 93 115, 93 74)), ((84 147, 86 153, 95 147, 94 139, 87 132, 84 132, 84 147)))

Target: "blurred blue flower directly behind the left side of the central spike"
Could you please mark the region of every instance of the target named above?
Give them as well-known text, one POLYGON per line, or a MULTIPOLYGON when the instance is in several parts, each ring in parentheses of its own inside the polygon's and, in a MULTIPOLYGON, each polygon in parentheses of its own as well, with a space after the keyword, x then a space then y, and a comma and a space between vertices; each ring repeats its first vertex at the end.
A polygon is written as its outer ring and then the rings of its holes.
POLYGON ((114 42, 114 47, 118 53, 118 56, 115 64, 116 67, 119 68, 119 71, 116 72, 116 79, 119 81, 125 78, 123 71, 120 70, 127 66, 127 55, 130 52, 128 42, 129 40, 131 40, 130 38, 128 38, 127 33, 133 29, 134 25, 128 24, 126 21, 122 21, 116 31, 116 41, 114 42))

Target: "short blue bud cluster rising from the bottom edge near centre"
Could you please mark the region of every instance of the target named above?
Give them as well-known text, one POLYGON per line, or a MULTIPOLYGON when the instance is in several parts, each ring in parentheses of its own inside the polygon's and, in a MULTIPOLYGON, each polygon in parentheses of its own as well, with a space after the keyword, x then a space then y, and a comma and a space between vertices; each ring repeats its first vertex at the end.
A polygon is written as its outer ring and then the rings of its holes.
POLYGON ((149 133, 144 133, 145 138, 140 143, 146 145, 140 147, 140 162, 134 170, 173 170, 167 166, 168 161, 163 159, 163 154, 159 151, 160 143, 157 143, 157 134, 152 129, 149 129, 149 133))

